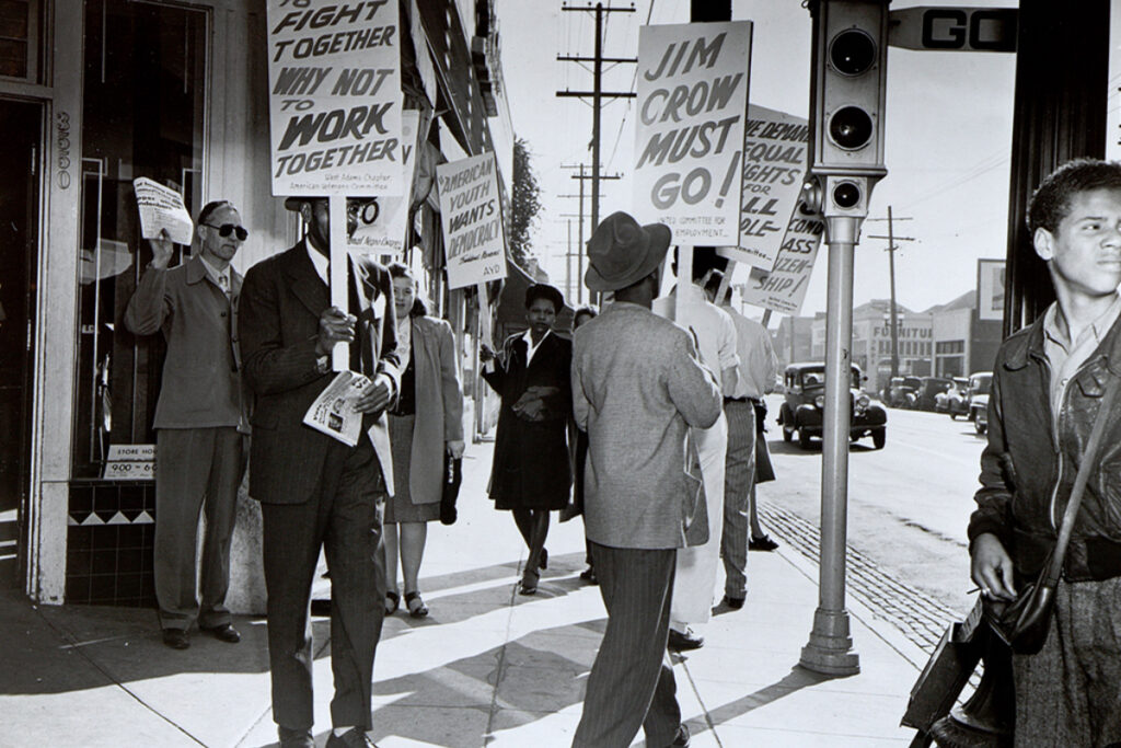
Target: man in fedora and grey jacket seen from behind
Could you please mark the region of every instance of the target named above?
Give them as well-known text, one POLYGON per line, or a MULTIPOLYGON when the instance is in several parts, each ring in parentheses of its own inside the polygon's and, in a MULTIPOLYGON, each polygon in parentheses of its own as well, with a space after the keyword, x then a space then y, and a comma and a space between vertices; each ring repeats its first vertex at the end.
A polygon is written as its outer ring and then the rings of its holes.
POLYGON ((689 427, 722 399, 688 332, 655 315, 668 227, 609 215, 587 244, 585 285, 614 302, 575 334, 573 409, 587 432, 584 525, 608 628, 587 678, 573 746, 687 746, 666 653, 677 548, 707 541, 689 427))

